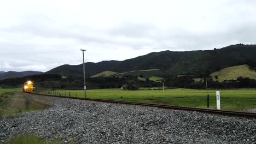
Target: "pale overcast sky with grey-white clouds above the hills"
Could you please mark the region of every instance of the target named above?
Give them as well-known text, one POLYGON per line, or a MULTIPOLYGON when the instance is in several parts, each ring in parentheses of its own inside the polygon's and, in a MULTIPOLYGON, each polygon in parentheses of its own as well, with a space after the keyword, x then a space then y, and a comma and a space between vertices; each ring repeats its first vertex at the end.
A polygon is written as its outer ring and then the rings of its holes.
POLYGON ((1 1, 0 71, 256 44, 256 1, 1 1))

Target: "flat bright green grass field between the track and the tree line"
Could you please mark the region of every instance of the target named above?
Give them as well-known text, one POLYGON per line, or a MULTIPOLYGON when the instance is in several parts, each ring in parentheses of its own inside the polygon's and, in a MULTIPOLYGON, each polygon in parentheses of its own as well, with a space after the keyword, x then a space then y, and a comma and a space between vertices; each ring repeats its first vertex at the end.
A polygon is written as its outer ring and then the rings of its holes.
MULTIPOLYGON (((56 90, 62 95, 71 97, 84 97, 84 91, 78 90, 56 90)), ((197 90, 197 89, 166 89, 161 90, 140 90, 123 91, 121 89, 94 89, 88 90, 87 98, 113 99, 123 101, 135 101, 143 103, 155 103, 166 105, 179 105, 190 107, 207 106, 207 94, 210 95, 210 107, 216 107, 215 90, 197 90)), ((54 92, 55 94, 55 92, 54 92)), ((221 106, 223 110, 246 110, 256 108, 256 89, 235 89, 220 90, 221 106)))

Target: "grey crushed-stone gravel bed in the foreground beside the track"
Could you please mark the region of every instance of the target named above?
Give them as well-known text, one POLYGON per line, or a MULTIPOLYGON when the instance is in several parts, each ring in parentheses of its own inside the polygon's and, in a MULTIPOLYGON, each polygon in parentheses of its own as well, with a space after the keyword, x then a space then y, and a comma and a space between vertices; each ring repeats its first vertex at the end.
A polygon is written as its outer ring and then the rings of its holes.
POLYGON ((0 140, 16 133, 63 143, 256 143, 256 119, 157 107, 27 95, 53 107, 0 118, 0 140))

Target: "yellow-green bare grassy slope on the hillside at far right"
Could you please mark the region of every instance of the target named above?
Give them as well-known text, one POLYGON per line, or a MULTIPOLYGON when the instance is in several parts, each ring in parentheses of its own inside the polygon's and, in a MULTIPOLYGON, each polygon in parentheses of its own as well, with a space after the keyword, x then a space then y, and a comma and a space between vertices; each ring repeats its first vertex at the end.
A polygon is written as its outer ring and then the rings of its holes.
POLYGON ((219 71, 216 71, 211 74, 212 79, 215 79, 215 75, 218 75, 218 81, 223 80, 236 80, 237 77, 249 77, 251 79, 256 79, 256 71, 250 70, 247 64, 238 65, 235 67, 225 68, 219 71))

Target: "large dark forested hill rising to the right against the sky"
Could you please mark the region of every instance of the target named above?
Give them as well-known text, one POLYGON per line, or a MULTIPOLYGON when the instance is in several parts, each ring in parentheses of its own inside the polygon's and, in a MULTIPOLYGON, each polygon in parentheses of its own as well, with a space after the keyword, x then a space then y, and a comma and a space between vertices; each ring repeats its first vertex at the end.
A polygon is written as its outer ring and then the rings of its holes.
MULTIPOLYGON (((256 69, 256 45, 236 44, 222 49, 199 51, 161 51, 125 61, 86 63, 86 75, 110 70, 118 73, 141 69, 161 69, 171 75, 206 76, 214 71, 235 65, 248 64, 256 69)), ((61 65, 46 72, 62 76, 82 76, 83 64, 61 65)))

